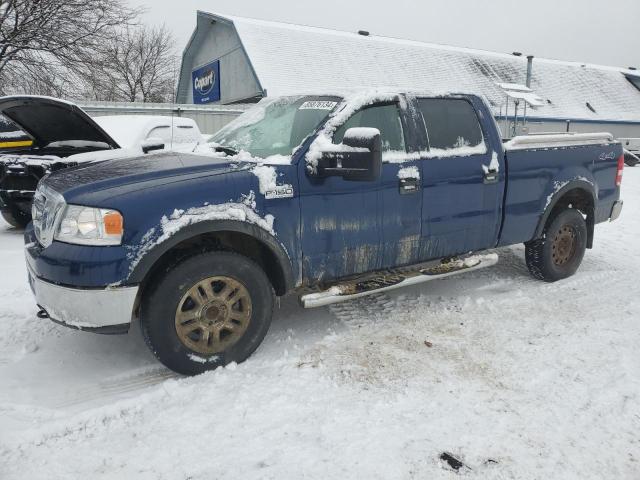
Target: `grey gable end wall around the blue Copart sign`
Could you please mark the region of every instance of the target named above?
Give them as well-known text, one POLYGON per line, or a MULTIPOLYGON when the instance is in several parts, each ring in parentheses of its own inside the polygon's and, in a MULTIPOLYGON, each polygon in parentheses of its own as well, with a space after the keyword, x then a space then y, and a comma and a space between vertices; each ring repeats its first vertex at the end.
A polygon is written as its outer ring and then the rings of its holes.
POLYGON ((183 54, 178 102, 193 103, 191 72, 220 60, 220 104, 262 96, 238 34, 232 25, 198 16, 196 31, 183 54))

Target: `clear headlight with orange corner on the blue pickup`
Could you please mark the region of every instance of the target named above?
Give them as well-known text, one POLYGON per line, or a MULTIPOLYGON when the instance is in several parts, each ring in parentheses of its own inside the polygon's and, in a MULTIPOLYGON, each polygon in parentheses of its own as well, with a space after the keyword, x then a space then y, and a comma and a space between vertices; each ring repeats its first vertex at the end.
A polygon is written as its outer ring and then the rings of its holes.
POLYGON ((54 238, 79 245, 120 245, 123 232, 122 215, 116 210, 67 205, 54 238))

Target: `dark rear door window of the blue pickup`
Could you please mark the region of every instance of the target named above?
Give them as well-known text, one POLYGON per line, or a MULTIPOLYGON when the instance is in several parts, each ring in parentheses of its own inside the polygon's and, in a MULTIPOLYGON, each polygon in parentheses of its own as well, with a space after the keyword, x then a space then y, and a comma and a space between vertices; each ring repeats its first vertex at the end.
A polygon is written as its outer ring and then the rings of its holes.
POLYGON ((482 129, 471 103, 457 98, 421 98, 418 108, 431 150, 476 147, 477 153, 483 153, 482 129))

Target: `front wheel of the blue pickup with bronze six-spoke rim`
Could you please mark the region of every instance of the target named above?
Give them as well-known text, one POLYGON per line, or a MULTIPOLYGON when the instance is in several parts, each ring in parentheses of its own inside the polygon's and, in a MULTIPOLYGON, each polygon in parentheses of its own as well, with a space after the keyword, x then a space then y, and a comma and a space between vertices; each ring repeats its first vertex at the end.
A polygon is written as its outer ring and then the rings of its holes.
POLYGON ((271 324, 273 287, 252 260, 208 252, 182 261, 143 294, 142 334, 171 370, 197 375, 240 363, 271 324))

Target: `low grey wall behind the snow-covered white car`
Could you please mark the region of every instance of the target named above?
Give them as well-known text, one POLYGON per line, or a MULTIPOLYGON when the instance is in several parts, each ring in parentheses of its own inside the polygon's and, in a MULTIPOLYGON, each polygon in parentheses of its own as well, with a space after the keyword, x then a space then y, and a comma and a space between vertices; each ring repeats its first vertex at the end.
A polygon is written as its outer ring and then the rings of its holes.
POLYGON ((192 118, 200 131, 212 134, 231 120, 241 115, 252 105, 175 105, 168 103, 126 103, 126 102, 78 102, 74 101, 92 117, 105 115, 177 115, 192 118))

